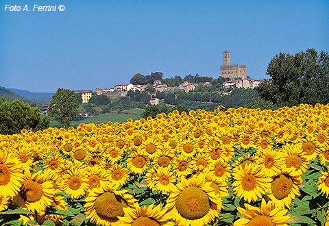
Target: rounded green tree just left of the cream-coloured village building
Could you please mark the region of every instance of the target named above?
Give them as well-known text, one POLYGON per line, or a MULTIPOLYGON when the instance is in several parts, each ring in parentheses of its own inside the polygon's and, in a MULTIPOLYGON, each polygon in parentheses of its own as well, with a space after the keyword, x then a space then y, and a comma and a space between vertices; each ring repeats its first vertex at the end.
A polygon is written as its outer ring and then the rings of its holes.
POLYGON ((56 118, 63 127, 69 127, 70 122, 77 116, 77 97, 69 89, 58 88, 49 103, 49 114, 56 118))

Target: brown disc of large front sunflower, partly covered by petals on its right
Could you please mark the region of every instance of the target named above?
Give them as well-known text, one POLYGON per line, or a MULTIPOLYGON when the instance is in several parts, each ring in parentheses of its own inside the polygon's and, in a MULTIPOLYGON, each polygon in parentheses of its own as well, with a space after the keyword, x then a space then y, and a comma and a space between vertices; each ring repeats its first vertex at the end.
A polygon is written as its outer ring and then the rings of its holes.
POLYGON ((104 192, 95 200, 95 211, 98 216, 109 221, 118 220, 118 216, 123 216, 123 208, 127 203, 119 196, 112 192, 104 192))

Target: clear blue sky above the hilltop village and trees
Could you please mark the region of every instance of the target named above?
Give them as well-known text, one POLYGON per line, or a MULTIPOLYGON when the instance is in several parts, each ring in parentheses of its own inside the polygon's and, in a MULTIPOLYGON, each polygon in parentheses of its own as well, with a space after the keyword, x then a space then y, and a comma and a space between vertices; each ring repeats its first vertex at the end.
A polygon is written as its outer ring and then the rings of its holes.
POLYGON ((110 88, 136 73, 219 77, 223 51, 267 78, 277 53, 328 51, 329 1, 0 0, 0 86, 110 88), (64 12, 4 12, 6 4, 64 12))

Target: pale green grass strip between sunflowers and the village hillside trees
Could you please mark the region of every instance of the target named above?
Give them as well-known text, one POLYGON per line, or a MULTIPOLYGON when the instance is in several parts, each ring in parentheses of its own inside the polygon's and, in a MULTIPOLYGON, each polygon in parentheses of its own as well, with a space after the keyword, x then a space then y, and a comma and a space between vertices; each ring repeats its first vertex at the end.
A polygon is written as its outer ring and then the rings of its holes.
MULTIPOLYGON (((132 118, 134 121, 141 118, 141 114, 144 112, 143 109, 130 109, 130 110, 125 110, 121 114, 99 114, 97 116, 93 117, 87 117, 84 118, 82 121, 71 121, 71 126, 77 127, 77 125, 81 123, 95 123, 95 124, 101 124, 101 123, 107 123, 108 121, 111 121, 113 123, 118 122, 118 123, 123 123, 127 121, 128 118, 132 118), (124 112, 128 114, 124 114, 124 112)), ((60 127, 60 123, 55 121, 54 118, 51 118, 50 121, 51 127, 60 127)))

